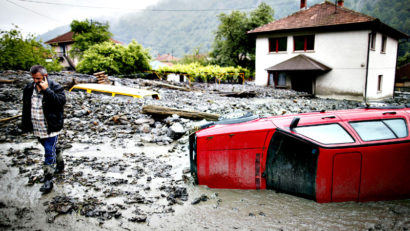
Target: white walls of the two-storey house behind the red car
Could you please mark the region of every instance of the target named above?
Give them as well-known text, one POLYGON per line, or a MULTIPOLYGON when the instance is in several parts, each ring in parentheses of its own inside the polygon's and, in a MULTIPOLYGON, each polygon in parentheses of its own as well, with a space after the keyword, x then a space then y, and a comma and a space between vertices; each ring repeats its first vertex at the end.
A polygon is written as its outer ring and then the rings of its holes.
MULTIPOLYGON (((287 51, 268 53, 269 36, 256 39, 255 84, 267 85, 268 73, 265 69, 299 54, 305 54, 328 67, 331 71, 316 78, 315 94, 319 97, 361 100, 366 81, 368 35, 371 31, 327 32, 315 34, 314 51, 294 52, 293 35, 275 34, 271 37, 287 36, 287 51)), ((386 54, 381 54, 381 34, 377 34, 376 49, 370 52, 368 97, 386 98, 392 95, 397 41, 387 39, 386 54), (383 75, 383 90, 377 92, 378 75, 383 75), (376 88, 376 90, 374 90, 376 88), (390 89, 390 90, 389 90, 390 89)), ((303 76, 301 76, 303 77, 303 76)))

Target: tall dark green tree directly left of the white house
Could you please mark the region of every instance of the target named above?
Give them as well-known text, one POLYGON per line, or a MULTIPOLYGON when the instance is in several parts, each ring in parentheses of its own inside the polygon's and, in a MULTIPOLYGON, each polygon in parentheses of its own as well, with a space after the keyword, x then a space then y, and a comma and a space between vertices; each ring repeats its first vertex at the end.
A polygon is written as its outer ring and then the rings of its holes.
POLYGON ((218 15, 220 24, 212 45, 211 57, 221 66, 242 66, 254 69, 255 39, 246 32, 273 21, 273 9, 261 3, 249 15, 232 11, 218 15))

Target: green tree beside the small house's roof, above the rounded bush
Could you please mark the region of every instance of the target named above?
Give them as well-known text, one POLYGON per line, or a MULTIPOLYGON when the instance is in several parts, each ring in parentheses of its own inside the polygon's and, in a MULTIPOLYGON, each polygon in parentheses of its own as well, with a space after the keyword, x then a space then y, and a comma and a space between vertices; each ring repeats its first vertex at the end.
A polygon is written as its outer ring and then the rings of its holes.
POLYGON ((110 40, 112 34, 108 31, 108 23, 97 21, 73 20, 70 24, 73 35, 73 49, 70 51, 71 56, 82 58, 84 52, 91 46, 110 40))

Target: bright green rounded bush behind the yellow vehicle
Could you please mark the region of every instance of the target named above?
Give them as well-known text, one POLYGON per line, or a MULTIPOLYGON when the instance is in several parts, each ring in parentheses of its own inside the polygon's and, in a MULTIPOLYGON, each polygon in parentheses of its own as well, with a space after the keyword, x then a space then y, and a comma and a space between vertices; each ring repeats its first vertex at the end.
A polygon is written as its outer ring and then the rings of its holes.
POLYGON ((128 46, 103 42, 84 52, 77 71, 87 74, 99 71, 107 74, 133 74, 151 69, 150 59, 148 49, 134 40, 128 46))

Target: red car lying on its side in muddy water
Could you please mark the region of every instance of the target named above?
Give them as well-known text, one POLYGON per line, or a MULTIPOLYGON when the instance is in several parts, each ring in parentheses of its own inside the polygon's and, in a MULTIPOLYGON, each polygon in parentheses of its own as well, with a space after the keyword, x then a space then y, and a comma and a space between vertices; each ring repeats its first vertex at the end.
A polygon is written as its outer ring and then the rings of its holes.
POLYGON ((317 202, 410 198, 409 122, 403 107, 216 124, 190 136, 191 174, 211 188, 317 202))

